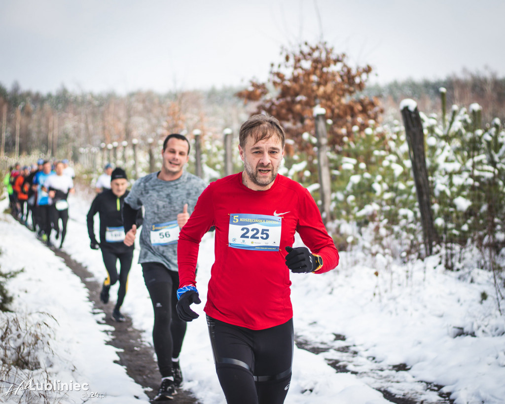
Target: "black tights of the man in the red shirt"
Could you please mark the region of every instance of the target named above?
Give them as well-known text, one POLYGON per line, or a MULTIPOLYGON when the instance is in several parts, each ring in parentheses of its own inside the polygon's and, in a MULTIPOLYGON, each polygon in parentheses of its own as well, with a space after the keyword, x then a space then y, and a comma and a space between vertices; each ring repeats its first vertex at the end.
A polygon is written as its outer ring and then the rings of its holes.
POLYGON ((228 404, 282 404, 291 382, 293 320, 250 330, 207 316, 216 373, 228 404))

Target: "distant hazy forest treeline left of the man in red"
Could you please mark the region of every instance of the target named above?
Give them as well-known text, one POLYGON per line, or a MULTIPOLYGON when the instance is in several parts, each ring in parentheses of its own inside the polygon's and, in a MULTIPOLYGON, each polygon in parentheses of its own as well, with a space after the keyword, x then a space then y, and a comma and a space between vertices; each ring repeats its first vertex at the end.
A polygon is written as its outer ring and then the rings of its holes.
POLYGON ((0 83, 0 155, 36 155, 78 161, 82 147, 115 141, 140 144, 194 129, 212 135, 247 118, 235 88, 126 95, 74 93, 62 87, 41 94, 0 83), (18 153, 16 153, 16 151, 18 153))

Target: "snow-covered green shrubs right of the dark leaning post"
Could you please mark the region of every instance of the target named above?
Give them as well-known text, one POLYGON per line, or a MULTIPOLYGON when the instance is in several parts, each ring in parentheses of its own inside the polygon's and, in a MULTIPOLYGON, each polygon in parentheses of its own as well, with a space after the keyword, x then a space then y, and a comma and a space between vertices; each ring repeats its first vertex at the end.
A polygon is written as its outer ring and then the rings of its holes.
POLYGON ((445 249, 445 266, 461 267, 462 249, 479 248, 485 268, 505 247, 505 132, 499 120, 482 125, 472 104, 452 106, 445 124, 421 115, 427 135, 427 165, 432 186, 435 227, 445 249))

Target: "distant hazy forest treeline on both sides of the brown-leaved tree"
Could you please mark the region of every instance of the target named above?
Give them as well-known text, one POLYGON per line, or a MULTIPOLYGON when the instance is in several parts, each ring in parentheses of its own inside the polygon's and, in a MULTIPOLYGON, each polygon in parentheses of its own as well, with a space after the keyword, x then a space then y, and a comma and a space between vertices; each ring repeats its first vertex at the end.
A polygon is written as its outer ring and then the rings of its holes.
MULTIPOLYGON (((383 109, 378 121, 387 122, 400 118, 398 105, 407 97, 417 101, 420 111, 439 113, 440 87, 446 88, 448 105, 478 103, 487 123, 505 118, 505 78, 492 72, 368 84, 360 94, 377 97, 383 109)), ((242 90, 224 87, 122 95, 76 93, 62 86, 55 93, 42 94, 22 89, 18 83, 10 88, 0 83, 0 156, 41 154, 77 160, 79 148, 102 143, 135 138, 142 144, 171 132, 191 136, 194 129, 210 137, 221 136, 225 128, 237 133, 253 107, 237 97, 242 90)))

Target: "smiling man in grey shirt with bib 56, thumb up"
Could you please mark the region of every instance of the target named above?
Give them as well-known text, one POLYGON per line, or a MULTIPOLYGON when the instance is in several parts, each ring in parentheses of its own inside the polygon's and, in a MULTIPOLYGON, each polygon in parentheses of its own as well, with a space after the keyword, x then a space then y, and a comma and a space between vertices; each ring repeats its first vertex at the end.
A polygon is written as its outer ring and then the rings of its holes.
POLYGON ((184 171, 189 160, 189 141, 180 134, 165 138, 161 171, 137 180, 125 198, 124 243, 135 241, 137 211, 144 207, 140 232, 140 257, 145 286, 154 309, 153 344, 162 376, 155 401, 173 398, 182 383, 179 354, 186 322, 176 311, 179 274, 177 240, 206 184, 184 171))

